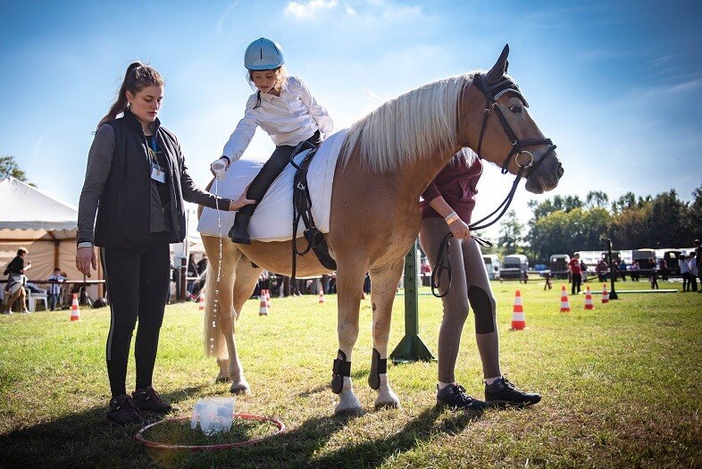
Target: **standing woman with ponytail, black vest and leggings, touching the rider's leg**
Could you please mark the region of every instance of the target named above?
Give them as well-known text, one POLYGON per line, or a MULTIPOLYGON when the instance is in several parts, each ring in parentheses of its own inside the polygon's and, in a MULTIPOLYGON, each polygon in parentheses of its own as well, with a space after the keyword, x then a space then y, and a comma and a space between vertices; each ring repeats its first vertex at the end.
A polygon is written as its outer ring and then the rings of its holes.
POLYGON ((100 247, 112 311, 107 420, 119 425, 141 423, 144 412, 172 410, 151 381, 170 293, 169 244, 186 235, 183 200, 228 211, 254 203, 246 196, 230 201, 196 187, 178 139, 156 117, 163 84, 152 67, 129 66, 116 102, 97 125, 80 193, 76 267, 89 277, 90 268, 96 269, 94 246, 100 247), (137 319, 137 390, 130 396, 125 382, 137 319))

